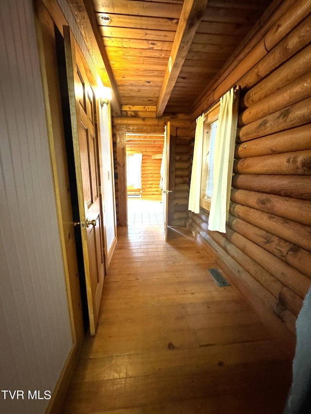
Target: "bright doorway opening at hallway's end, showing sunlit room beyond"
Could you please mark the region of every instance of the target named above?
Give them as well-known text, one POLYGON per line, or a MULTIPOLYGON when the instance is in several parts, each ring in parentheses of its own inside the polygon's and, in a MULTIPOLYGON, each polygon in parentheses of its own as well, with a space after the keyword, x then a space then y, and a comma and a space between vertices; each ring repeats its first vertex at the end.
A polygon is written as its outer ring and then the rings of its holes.
POLYGON ((163 226, 164 134, 125 134, 128 226, 163 226))

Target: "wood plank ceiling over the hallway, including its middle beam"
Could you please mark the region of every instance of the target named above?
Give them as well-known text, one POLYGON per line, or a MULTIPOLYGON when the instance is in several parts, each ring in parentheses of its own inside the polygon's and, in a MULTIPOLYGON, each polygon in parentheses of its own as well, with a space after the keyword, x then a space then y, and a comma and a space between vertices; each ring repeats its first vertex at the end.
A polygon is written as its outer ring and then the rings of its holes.
POLYGON ((156 116, 189 114, 270 3, 69 0, 80 27, 85 9, 97 43, 103 42, 100 50, 114 90, 113 109, 119 116, 136 106, 151 107, 156 116))

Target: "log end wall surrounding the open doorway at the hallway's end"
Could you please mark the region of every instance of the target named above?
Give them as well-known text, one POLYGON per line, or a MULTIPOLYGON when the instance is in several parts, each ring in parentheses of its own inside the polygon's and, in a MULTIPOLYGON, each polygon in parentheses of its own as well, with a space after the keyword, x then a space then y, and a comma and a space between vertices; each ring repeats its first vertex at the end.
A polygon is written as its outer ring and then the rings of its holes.
MULTIPOLYGON (((154 107, 131 107, 122 112, 122 117, 112 117, 113 124, 113 147, 114 147, 114 168, 115 168, 115 188, 117 204, 117 223, 119 226, 126 226, 126 214, 124 214, 124 177, 122 175, 122 154, 120 139, 127 133, 135 134, 159 134, 164 133, 164 126, 168 121, 171 123, 171 157, 170 157, 170 189, 169 195, 169 225, 186 226, 188 195, 190 186, 191 169, 191 149, 190 149, 190 118, 180 114, 173 117, 166 116, 155 118, 154 107), (118 145, 117 145, 118 142, 118 145), (121 181, 120 181, 121 180, 121 181), (120 185, 121 183, 121 185, 120 185), (120 208, 121 207, 121 208, 120 208)), ((147 159, 146 159, 147 160, 147 159)), ((158 160, 156 160, 158 161, 158 160)), ((161 164, 160 161, 158 161, 161 164)), ((157 187, 159 180, 157 182, 157 187)), ((152 184, 155 185, 155 182, 152 184)), ((158 194, 155 187, 151 188, 147 184, 144 195, 150 197, 153 193, 158 194)))

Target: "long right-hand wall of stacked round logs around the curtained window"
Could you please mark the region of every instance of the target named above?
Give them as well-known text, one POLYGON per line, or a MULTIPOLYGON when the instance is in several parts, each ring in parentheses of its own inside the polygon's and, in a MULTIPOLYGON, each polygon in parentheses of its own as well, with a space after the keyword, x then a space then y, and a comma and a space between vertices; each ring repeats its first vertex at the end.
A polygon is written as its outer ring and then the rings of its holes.
POLYGON ((234 261, 236 277, 292 331, 311 284, 310 12, 308 0, 283 1, 270 17, 277 21, 263 23, 253 48, 245 45, 244 57, 228 64, 192 114, 194 120, 241 85, 226 233, 207 230, 204 209, 189 213, 188 226, 234 261), (255 53, 260 45, 265 50, 255 53))

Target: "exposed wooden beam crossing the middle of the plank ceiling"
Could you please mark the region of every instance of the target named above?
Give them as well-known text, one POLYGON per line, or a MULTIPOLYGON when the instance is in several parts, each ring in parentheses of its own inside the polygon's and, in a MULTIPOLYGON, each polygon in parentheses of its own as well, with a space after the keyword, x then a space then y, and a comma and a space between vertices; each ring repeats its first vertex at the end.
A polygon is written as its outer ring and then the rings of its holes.
POLYGON ((184 2, 173 41, 169 64, 157 102, 157 117, 163 115, 206 6, 207 0, 189 0, 184 2))

